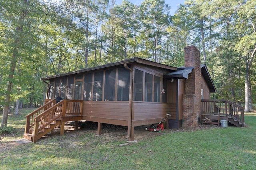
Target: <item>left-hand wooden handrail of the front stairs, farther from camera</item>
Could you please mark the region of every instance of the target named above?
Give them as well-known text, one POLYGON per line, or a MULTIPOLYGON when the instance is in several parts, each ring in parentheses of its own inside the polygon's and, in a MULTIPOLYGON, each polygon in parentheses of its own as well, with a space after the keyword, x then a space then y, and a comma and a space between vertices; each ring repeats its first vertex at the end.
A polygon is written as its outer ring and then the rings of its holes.
POLYGON ((25 126, 25 133, 29 133, 29 129, 34 126, 34 118, 40 114, 42 114, 44 111, 52 107, 56 103, 56 100, 52 99, 48 101, 43 106, 39 107, 38 109, 32 111, 28 115, 26 115, 26 126, 25 126))

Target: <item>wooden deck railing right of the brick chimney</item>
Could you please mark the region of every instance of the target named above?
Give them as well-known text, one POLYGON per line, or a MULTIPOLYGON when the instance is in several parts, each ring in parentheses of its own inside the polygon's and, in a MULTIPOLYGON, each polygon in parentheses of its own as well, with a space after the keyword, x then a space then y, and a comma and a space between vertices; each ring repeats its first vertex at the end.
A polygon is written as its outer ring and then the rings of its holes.
POLYGON ((205 113, 220 113, 244 123, 244 107, 228 100, 201 100, 202 111, 205 113))

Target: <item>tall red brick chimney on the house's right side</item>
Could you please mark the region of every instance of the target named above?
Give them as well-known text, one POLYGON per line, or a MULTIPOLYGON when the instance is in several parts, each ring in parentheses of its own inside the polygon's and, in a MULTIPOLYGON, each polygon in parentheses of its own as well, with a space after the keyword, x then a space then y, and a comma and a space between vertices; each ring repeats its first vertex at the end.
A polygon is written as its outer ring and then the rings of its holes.
POLYGON ((184 47, 185 67, 194 67, 185 80, 183 94, 184 127, 198 126, 198 117, 201 114, 201 61, 200 51, 194 46, 184 47))

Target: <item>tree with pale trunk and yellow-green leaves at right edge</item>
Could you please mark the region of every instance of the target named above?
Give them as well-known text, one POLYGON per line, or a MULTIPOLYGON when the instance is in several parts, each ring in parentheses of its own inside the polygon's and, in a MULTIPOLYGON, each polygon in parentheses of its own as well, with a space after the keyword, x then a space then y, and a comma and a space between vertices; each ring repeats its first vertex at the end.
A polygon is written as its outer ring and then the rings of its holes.
POLYGON ((254 0, 214 0, 213 17, 228 23, 237 34, 238 41, 233 47, 245 61, 245 111, 250 111, 250 70, 256 54, 256 2, 254 0), (232 16, 232 18, 230 18, 232 16), (229 19, 230 18, 230 19, 229 19))

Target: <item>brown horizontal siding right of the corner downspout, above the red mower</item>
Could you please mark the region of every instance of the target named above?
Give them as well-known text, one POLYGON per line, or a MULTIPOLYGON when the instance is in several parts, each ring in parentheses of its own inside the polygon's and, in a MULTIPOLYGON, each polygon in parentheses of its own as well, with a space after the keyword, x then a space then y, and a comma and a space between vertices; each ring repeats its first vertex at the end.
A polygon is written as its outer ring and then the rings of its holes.
POLYGON ((159 123, 167 113, 176 119, 176 104, 133 101, 132 108, 132 126, 159 123))

